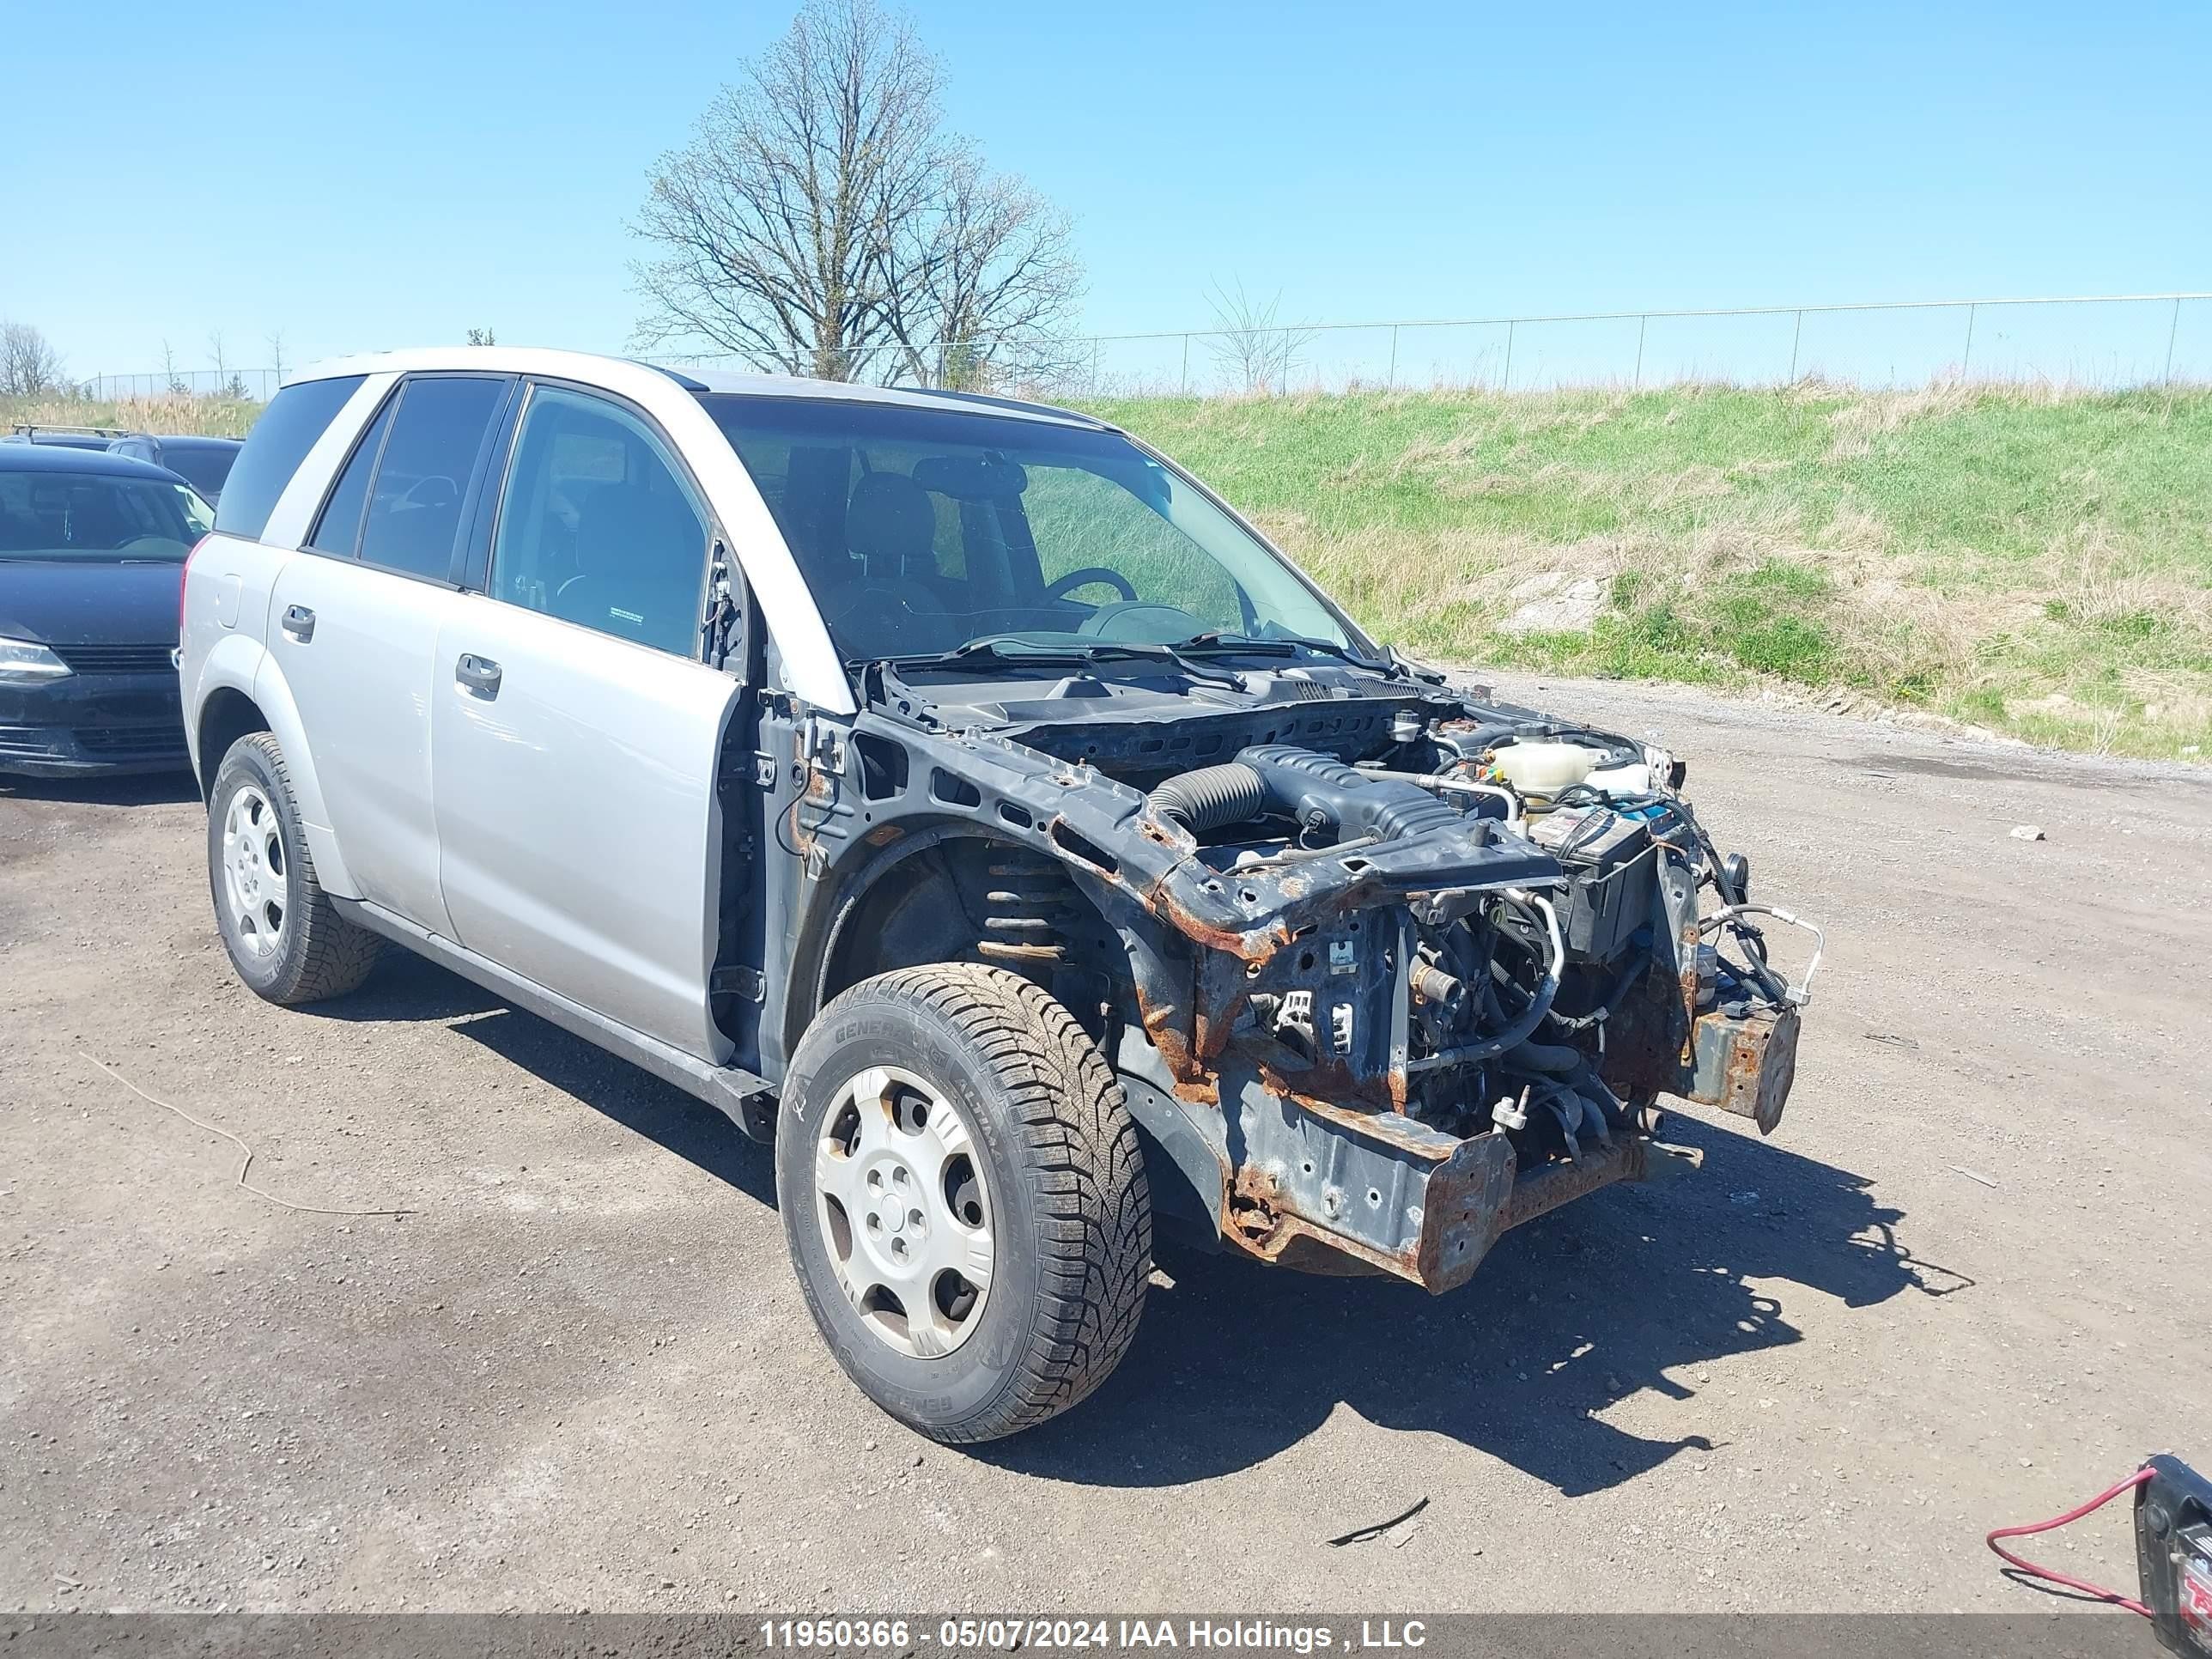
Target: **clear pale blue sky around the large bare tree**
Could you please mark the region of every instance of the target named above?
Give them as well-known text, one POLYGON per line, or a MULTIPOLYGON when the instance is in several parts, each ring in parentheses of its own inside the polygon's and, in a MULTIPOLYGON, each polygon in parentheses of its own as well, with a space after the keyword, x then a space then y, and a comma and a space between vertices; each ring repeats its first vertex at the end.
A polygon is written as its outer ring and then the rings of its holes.
MULTIPOLYGON (((916 4, 1084 325, 2212 288, 2212 7, 916 4)), ((657 153, 787 4, 0 0, 0 316, 71 372, 617 349, 657 153)))

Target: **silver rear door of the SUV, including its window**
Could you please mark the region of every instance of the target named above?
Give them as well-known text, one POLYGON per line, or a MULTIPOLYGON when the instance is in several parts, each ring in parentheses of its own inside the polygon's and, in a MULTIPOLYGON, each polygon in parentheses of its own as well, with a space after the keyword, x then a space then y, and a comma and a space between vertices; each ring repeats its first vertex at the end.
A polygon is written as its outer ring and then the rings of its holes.
POLYGON ((469 502, 513 383, 425 374, 363 429, 270 593, 268 648, 361 898, 451 938, 438 896, 431 688, 469 502))

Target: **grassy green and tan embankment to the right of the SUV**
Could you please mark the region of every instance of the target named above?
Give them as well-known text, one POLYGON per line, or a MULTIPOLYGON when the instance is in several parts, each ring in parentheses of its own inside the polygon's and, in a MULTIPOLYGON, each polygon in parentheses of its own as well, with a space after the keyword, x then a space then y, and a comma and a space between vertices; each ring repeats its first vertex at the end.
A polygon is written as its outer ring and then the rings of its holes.
POLYGON ((1091 405, 1365 626, 1513 668, 1792 681, 2212 748, 2212 392, 1429 392, 1091 405), (1586 630, 1506 626, 1595 582, 1586 630))

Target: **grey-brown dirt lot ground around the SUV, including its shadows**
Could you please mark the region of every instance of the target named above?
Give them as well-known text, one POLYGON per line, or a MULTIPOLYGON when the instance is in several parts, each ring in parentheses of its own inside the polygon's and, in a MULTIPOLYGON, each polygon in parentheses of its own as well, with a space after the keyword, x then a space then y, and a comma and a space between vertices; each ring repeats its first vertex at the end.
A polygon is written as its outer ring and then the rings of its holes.
POLYGON ((2212 1462, 2212 776, 1542 699, 1829 922, 1778 1135, 1674 1117, 1701 1172, 1442 1301, 1170 1250, 1115 1380, 980 1455, 834 1369, 721 1117, 411 960, 265 1006, 188 787, 0 790, 0 1604, 2048 1606, 1986 1526, 2212 1462), (82 1055, 416 1214, 243 1194, 82 1055))

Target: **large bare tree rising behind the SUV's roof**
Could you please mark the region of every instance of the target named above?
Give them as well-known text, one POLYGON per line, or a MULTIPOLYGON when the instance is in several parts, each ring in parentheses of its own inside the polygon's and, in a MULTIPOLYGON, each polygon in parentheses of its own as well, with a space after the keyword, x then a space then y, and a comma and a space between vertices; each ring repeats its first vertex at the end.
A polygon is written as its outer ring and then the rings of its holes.
POLYGON ((639 343, 854 380, 1042 338, 1077 292, 1066 219, 942 131, 938 84, 902 15, 807 0, 655 168, 639 343))

